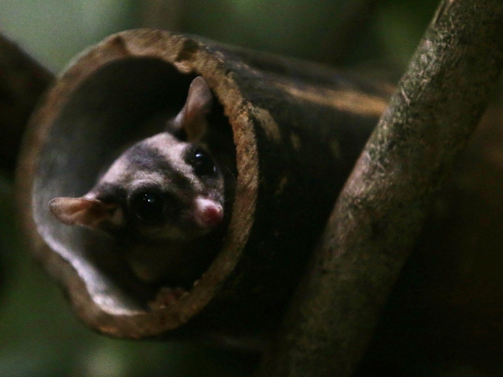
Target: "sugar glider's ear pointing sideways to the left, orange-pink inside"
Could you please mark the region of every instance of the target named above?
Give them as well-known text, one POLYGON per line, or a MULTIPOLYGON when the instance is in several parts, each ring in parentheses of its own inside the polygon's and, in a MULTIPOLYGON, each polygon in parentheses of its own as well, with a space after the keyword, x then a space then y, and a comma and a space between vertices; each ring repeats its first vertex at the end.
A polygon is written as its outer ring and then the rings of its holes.
POLYGON ((49 202, 49 211, 63 224, 88 228, 98 228, 111 219, 114 208, 117 206, 88 198, 55 198, 49 202))

